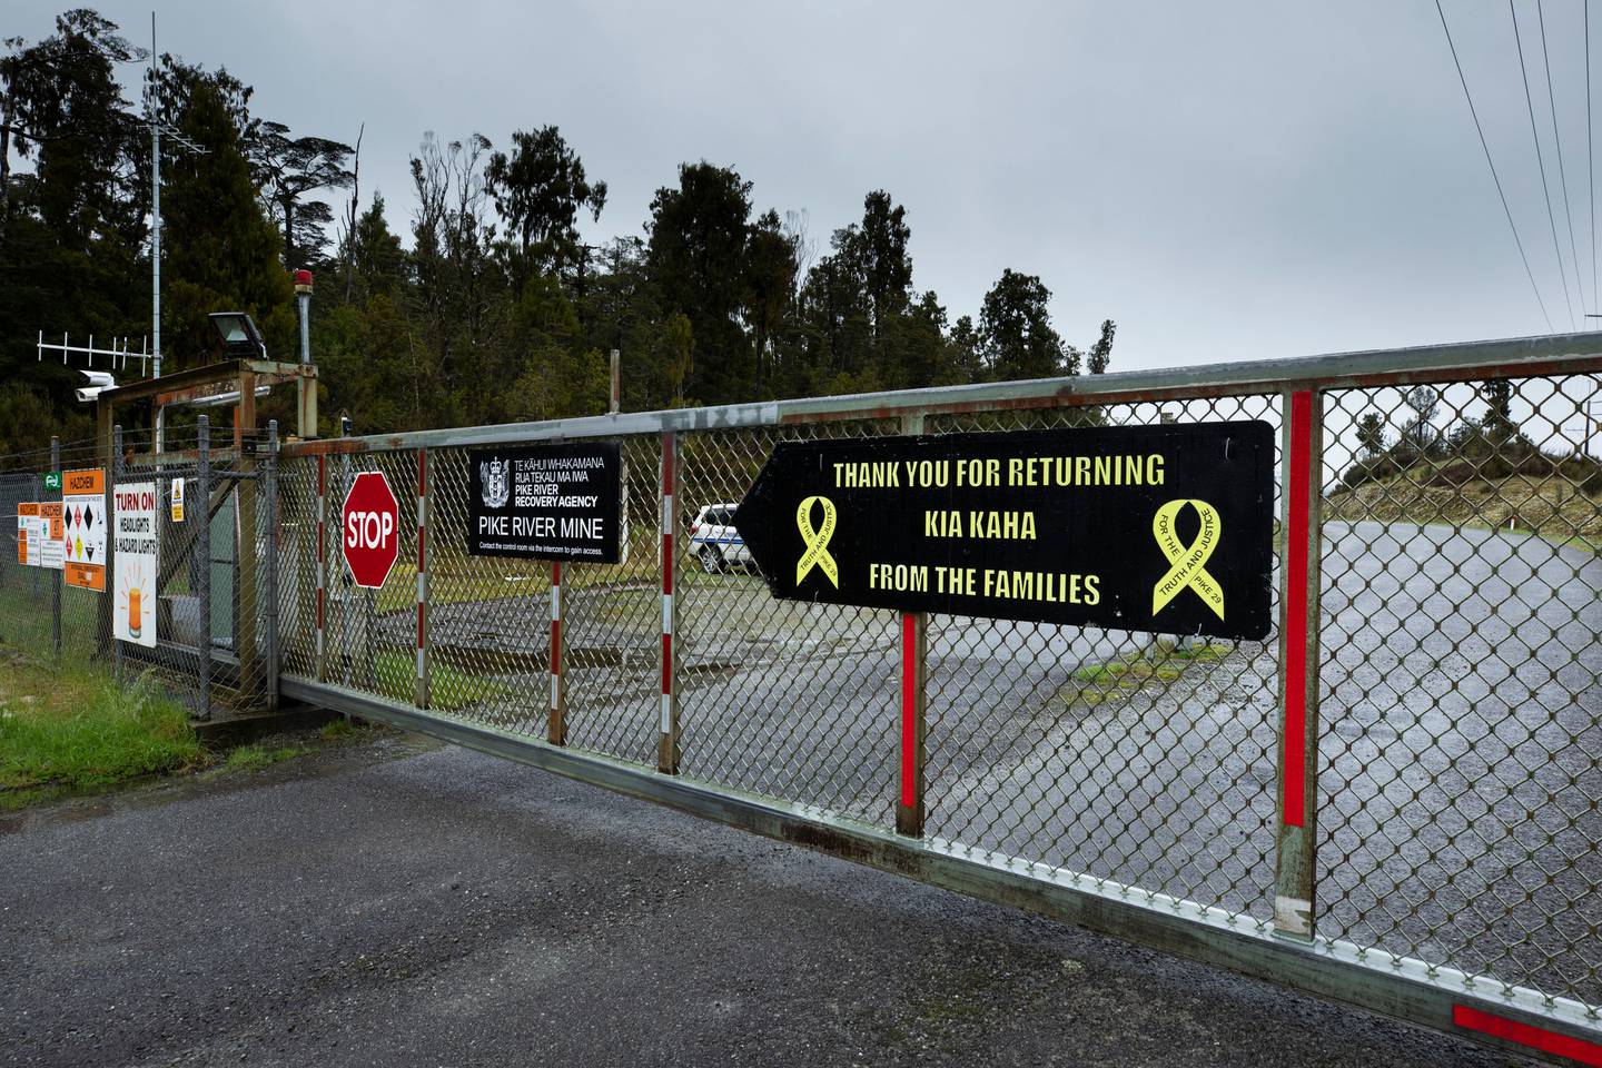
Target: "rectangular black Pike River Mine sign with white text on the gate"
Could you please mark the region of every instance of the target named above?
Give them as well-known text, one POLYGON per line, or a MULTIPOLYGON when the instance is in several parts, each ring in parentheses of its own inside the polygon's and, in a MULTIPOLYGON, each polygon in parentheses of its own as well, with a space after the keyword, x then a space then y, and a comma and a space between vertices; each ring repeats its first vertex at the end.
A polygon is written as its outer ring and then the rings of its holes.
POLYGON ((617 442, 481 448, 468 471, 469 554, 618 562, 617 442))

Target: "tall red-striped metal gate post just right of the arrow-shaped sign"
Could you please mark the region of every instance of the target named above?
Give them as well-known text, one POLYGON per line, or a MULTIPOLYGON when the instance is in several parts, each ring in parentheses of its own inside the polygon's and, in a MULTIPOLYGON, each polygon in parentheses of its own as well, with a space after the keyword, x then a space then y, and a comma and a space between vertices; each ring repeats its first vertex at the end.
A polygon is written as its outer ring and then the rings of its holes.
POLYGON ((1280 753, 1274 933, 1310 942, 1318 847, 1318 575, 1323 397, 1283 394, 1280 753))

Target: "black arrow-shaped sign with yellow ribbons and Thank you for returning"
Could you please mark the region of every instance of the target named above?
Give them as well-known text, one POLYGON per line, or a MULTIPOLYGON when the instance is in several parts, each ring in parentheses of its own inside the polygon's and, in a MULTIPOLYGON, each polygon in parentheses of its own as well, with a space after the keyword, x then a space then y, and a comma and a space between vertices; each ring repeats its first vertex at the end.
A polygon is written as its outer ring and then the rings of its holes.
POLYGON ((775 597, 1262 639, 1274 428, 780 442, 734 522, 775 597))

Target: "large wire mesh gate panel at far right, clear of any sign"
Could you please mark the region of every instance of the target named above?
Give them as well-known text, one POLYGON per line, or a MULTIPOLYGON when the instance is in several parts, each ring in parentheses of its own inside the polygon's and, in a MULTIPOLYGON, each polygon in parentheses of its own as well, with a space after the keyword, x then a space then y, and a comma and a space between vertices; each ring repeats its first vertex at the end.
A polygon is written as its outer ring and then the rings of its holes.
POLYGON ((1320 930, 1602 1002, 1591 375, 1325 400, 1320 930))

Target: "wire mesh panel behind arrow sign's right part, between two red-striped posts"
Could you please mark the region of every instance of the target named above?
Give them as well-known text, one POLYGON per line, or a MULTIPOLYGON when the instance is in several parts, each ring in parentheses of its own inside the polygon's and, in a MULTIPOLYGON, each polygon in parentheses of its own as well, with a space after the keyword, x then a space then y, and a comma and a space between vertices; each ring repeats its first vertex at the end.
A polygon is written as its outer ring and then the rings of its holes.
MULTIPOLYGON (((937 416, 926 429, 1278 418, 1277 397, 1243 397, 937 416)), ((932 616, 929 833, 1266 917, 1274 640, 932 616)))

